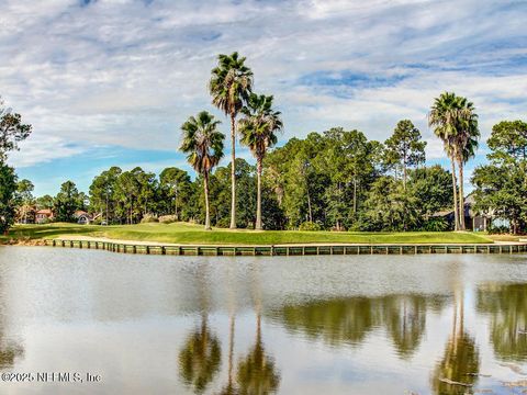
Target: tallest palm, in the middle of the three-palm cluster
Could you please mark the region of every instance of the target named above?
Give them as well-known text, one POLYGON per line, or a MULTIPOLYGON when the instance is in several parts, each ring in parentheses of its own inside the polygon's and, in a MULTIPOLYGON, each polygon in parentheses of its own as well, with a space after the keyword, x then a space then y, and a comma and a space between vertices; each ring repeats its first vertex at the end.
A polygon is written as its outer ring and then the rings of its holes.
POLYGON ((238 53, 218 55, 217 67, 213 68, 209 91, 212 104, 231 116, 231 228, 236 228, 236 116, 253 90, 253 71, 245 66, 245 57, 238 53))

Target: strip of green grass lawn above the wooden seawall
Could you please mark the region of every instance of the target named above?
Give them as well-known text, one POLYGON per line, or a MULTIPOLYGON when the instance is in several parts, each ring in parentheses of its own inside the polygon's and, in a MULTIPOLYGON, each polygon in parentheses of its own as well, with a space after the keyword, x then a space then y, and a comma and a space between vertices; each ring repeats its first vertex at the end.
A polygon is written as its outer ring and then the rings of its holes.
POLYGON ((92 236, 123 240, 160 241, 173 244, 203 245, 279 245, 307 242, 347 242, 347 244, 480 244, 492 242, 483 234, 453 232, 296 232, 296 230, 203 230, 201 225, 187 223, 176 224, 139 224, 139 225, 18 225, 0 241, 9 239, 65 238, 68 236, 92 236))

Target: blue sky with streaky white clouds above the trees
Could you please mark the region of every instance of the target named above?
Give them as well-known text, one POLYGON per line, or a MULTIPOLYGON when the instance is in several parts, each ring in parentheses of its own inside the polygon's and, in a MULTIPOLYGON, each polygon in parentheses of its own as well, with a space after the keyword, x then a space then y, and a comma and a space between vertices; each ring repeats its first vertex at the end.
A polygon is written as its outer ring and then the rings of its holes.
POLYGON ((189 115, 228 132, 206 84, 234 50, 274 94, 282 142, 332 126, 384 140, 410 119, 441 162, 426 113, 442 91, 474 102, 483 143, 527 119, 526 20, 525 0, 0 0, 0 94, 34 127, 10 162, 36 194, 114 165, 188 169, 189 115))

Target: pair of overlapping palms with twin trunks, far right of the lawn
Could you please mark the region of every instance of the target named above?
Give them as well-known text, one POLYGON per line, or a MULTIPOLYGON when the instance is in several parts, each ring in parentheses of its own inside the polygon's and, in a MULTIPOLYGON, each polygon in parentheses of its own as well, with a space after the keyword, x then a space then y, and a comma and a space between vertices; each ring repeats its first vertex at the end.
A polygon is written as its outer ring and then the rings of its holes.
POLYGON ((442 140, 452 169, 453 214, 456 230, 464 229, 464 196, 463 196, 463 165, 474 155, 478 147, 478 115, 474 108, 466 98, 456 93, 445 92, 436 98, 428 114, 428 125, 434 126, 434 133, 442 140), (460 189, 458 205, 458 183, 456 162, 460 171, 460 189))

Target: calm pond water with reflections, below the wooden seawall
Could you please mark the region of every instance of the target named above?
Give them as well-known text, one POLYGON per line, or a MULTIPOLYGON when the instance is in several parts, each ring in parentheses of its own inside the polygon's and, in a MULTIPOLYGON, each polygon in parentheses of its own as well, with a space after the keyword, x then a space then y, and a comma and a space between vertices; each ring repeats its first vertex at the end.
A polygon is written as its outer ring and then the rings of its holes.
POLYGON ((0 248, 2 394, 524 394, 525 330, 527 256, 0 248))

